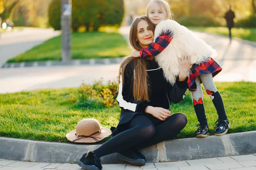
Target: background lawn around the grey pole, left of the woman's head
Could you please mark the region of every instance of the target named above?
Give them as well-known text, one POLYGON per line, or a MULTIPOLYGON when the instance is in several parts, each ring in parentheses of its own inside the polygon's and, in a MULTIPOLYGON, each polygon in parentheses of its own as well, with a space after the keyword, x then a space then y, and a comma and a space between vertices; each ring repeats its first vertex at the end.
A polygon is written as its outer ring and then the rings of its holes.
MULTIPOLYGON (((123 57, 131 49, 122 35, 112 32, 86 32, 71 34, 72 59, 123 57)), ((61 60, 61 36, 47 40, 7 62, 61 60)))

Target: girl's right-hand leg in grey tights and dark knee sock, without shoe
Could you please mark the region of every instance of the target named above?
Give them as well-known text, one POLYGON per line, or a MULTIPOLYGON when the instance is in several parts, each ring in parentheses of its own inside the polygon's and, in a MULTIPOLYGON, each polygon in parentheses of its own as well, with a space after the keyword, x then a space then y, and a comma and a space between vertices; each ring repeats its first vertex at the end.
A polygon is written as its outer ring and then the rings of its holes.
POLYGON ((221 120, 227 119, 224 104, 223 104, 220 93, 218 92, 217 88, 214 85, 212 74, 201 74, 200 79, 204 85, 204 89, 212 99, 212 103, 215 106, 216 111, 218 113, 218 119, 221 119, 221 120))

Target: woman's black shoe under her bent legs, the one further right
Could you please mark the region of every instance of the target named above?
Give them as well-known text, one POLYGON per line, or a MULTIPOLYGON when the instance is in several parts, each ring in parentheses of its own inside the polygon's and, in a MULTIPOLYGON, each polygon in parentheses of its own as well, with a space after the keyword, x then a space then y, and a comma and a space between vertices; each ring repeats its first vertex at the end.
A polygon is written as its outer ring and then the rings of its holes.
POLYGON ((139 148, 130 148, 115 154, 116 159, 119 161, 132 164, 135 166, 143 166, 146 164, 146 157, 143 155, 139 148))

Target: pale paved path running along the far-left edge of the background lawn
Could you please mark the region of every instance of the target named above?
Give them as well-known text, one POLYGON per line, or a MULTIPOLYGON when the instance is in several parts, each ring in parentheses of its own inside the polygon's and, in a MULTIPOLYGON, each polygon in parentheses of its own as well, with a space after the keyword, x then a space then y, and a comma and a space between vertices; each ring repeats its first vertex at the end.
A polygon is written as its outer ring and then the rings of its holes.
POLYGON ((52 28, 21 28, 0 35, 0 65, 8 59, 60 34, 52 28))

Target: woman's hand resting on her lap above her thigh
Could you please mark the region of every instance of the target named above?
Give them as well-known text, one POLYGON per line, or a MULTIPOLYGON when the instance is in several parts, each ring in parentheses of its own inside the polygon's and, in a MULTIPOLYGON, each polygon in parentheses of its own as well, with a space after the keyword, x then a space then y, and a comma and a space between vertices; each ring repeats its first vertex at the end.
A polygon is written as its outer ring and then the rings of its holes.
POLYGON ((146 107, 145 113, 149 113, 155 118, 162 121, 165 121, 166 118, 171 116, 171 112, 169 110, 164 108, 153 107, 153 106, 146 107))

